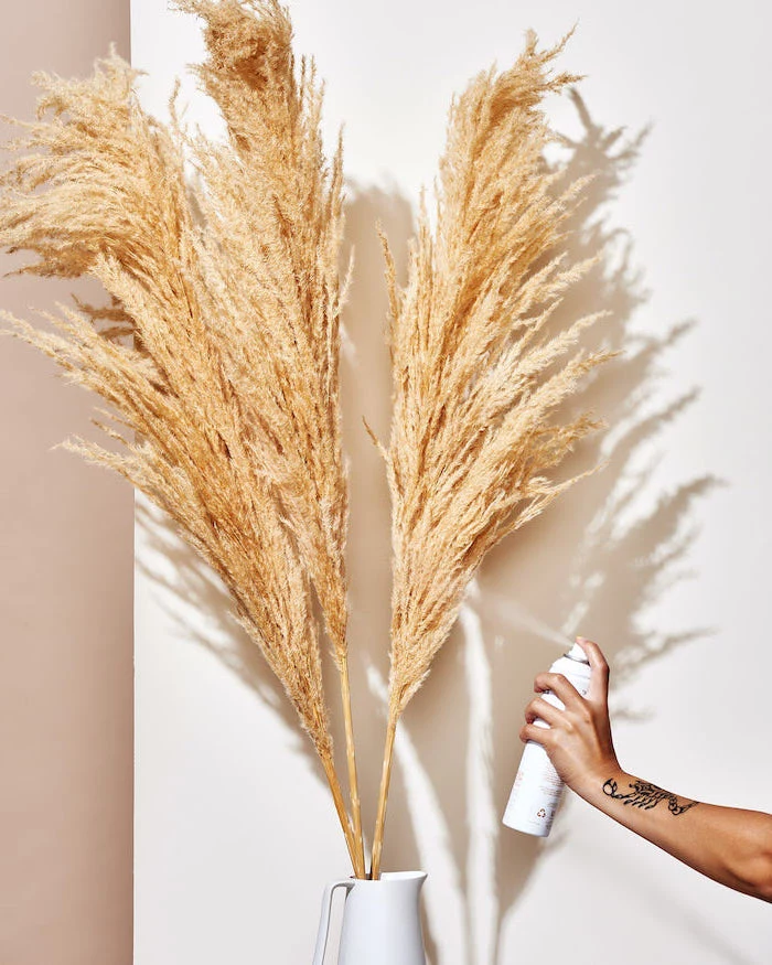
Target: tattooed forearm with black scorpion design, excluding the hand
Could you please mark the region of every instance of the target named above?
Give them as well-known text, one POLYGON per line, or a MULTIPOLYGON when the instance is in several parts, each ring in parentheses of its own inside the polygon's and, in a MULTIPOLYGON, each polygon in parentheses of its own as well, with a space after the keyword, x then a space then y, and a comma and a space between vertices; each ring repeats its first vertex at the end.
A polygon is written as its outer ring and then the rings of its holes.
POLYGON ((573 790, 697 871, 772 902, 772 815, 698 803, 608 770, 586 775, 573 790))

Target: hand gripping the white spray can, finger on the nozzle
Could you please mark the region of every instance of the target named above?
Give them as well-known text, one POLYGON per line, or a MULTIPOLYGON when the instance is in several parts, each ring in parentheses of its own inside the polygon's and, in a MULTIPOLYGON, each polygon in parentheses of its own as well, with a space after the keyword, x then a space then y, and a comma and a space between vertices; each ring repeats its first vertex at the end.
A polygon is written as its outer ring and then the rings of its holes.
POLYGON ((534 690, 551 691, 564 708, 535 697, 525 709, 526 722, 519 737, 522 741, 540 743, 561 780, 583 797, 599 780, 602 784, 621 769, 609 721, 609 665, 597 643, 583 636, 577 636, 577 643, 591 667, 587 697, 562 674, 538 674, 534 690), (537 718, 549 726, 535 723, 537 718))

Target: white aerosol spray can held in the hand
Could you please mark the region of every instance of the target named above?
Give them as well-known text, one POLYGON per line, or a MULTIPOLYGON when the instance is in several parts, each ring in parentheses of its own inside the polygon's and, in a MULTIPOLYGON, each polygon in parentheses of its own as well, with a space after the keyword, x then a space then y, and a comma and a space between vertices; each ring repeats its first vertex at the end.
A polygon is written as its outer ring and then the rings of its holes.
MULTIPOLYGON (((578 643, 555 661, 549 669, 553 674, 562 674, 582 697, 587 696, 590 688, 590 664, 578 643)), ((551 690, 545 690, 542 697, 560 710, 565 707, 562 700, 551 690)), ((549 727, 540 717, 537 717, 534 723, 537 727, 549 727)), ((504 812, 504 824, 515 830, 547 837, 564 786, 542 744, 533 740, 527 741, 510 794, 510 802, 504 812)))

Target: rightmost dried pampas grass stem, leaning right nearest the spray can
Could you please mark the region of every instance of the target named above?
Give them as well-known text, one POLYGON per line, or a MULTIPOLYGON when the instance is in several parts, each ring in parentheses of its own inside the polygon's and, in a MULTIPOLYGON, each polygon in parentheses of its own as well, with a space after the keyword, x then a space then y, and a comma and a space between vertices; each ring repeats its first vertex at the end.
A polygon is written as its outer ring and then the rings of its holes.
POLYGON ((589 412, 566 425, 550 421, 582 377, 618 354, 578 351, 562 361, 599 315, 546 334, 562 292, 590 267, 567 264, 560 254, 583 182, 560 187, 565 172, 544 156, 554 135, 543 98, 579 79, 551 75, 566 40, 538 51, 528 33, 510 69, 479 74, 453 99, 436 225, 421 194, 405 287, 380 232, 392 317, 394 414, 384 457, 394 583, 373 878, 399 717, 484 555, 588 474, 555 482, 544 473, 603 425, 589 412))

